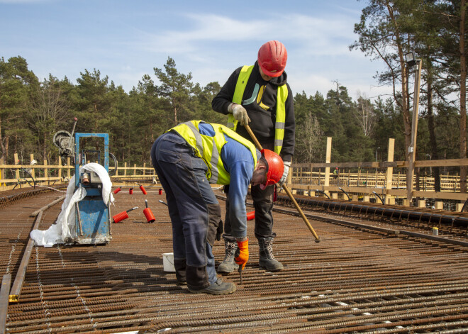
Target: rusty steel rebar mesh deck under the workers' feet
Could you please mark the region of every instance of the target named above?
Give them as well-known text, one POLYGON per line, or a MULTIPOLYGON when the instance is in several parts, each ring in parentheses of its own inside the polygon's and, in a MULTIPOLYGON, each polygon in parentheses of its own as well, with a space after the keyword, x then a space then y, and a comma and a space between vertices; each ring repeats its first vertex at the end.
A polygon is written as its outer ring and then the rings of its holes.
MULTIPOLYGON (((30 192, 0 194, 8 198, 0 201, 0 273, 11 274, 12 283, 36 222, 31 214, 63 195, 30 192)), ((325 213, 310 221, 321 238, 315 243, 286 207, 274 212, 274 255, 284 269, 258 267, 249 221, 243 284, 237 271, 219 275, 237 291, 210 296, 189 293, 164 271, 162 254, 172 252, 164 193, 123 189, 115 197, 113 214, 139 209, 112 224, 107 245, 32 248, 18 301, 0 301, 1 333, 468 333, 466 233, 448 243, 443 226, 440 238, 419 238, 389 233, 396 230, 389 218, 368 229, 360 224, 372 217, 348 214, 347 221, 360 222, 353 226, 325 213), (143 215, 145 199, 154 223, 143 215)), ((43 211, 39 229, 54 223, 60 209, 59 201, 43 211)), ((222 242, 213 253, 218 265, 222 242)), ((0 298, 7 288, 1 289, 0 298)))

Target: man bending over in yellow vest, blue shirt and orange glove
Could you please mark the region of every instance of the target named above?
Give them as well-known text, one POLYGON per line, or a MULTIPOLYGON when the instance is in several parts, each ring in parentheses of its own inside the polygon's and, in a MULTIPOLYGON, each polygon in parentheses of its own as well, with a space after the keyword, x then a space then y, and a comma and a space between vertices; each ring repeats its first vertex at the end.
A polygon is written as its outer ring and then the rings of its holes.
POLYGON ((250 184, 267 187, 283 175, 281 157, 255 148, 221 124, 189 121, 160 135, 151 160, 166 193, 178 284, 189 291, 232 294, 235 285, 216 276, 212 247, 223 233, 221 207, 210 184, 230 184, 230 221, 239 248, 235 263, 249 258, 245 197, 250 184))

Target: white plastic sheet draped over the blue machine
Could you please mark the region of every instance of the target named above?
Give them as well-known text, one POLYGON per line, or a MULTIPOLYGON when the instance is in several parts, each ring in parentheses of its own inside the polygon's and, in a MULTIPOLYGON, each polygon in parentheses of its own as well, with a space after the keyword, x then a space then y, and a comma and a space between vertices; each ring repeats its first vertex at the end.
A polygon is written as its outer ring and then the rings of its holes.
MULTIPOLYGON (((91 162, 83 167, 79 168, 79 173, 83 173, 85 170, 89 172, 96 172, 99 179, 102 182, 102 200, 104 204, 108 206, 113 203, 113 194, 111 193, 112 182, 109 177, 106 169, 94 162, 91 162)), ((65 243, 65 238, 76 236, 75 228, 75 219, 76 219, 76 209, 75 205, 77 202, 84 199, 86 196, 86 189, 81 187, 75 189, 74 187, 74 177, 70 180, 67 187, 67 194, 65 196, 65 201, 62 204, 62 211, 57 217, 57 221, 48 228, 48 230, 32 230, 30 233, 31 239, 35 241, 35 244, 38 246, 52 247, 58 243, 65 243)))

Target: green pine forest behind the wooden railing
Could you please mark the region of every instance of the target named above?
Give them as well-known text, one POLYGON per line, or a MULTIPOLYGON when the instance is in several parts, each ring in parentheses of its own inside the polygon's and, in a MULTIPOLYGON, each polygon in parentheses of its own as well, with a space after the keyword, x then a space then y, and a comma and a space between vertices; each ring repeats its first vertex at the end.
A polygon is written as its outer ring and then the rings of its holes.
MULTIPOLYGON (((324 162, 327 137, 333 138, 333 162, 386 160, 388 138, 396 140, 395 160, 406 160, 414 68, 404 56, 410 51, 423 63, 416 160, 467 157, 465 0, 366 2, 350 50, 384 62, 386 70, 375 79, 391 84, 394 94, 353 99, 338 80, 326 96, 296 93, 294 162, 324 162)), ((40 81, 25 58, 1 57, 0 162, 13 163, 14 153, 21 163, 30 153, 56 161, 52 137, 57 130, 71 132, 77 117, 77 132, 109 134, 118 161, 149 164, 154 140, 177 123, 226 123, 211 109, 220 88, 218 82, 194 83, 172 57, 128 92, 99 69, 84 69, 76 82, 52 74, 40 81)), ((466 179, 464 168, 460 173, 466 179)))

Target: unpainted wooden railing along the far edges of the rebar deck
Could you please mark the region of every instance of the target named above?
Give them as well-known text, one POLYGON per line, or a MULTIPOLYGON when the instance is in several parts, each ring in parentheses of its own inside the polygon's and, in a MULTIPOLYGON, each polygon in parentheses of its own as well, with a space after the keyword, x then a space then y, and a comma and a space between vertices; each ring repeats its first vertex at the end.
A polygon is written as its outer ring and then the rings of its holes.
MULTIPOLYGON (((30 155, 30 160, 34 159, 30 155)), ((18 161, 15 156, 15 161, 18 161)), ((424 160, 416 161, 417 167, 459 167, 467 166, 468 159, 455 160, 424 160)), ((316 192, 324 192, 332 198, 346 198, 345 192, 352 199, 369 200, 369 196, 378 194, 386 204, 394 204, 398 199, 406 199, 406 161, 386 162, 340 162, 293 164, 289 170, 289 188, 296 193, 314 196, 316 192), (338 167, 340 173, 335 177, 331 170, 338 167), (330 170, 331 169, 331 170, 330 170), (394 173, 394 169, 400 169, 394 173), (357 171, 357 172, 355 172, 357 171)), ((113 167, 109 167, 110 172, 113 167)), ((55 165, 44 161, 43 165, 0 165, 2 178, 0 191, 16 187, 30 187, 32 179, 39 186, 49 186, 57 183, 68 183, 74 174, 74 165, 70 160, 60 160, 55 165)), ((459 192, 459 176, 457 174, 441 174, 441 191, 434 191, 434 178, 423 175, 419 178, 419 187, 413 184, 413 197, 419 199, 455 200, 463 203, 468 194, 459 192)), ((137 182, 148 184, 158 183, 155 170, 143 164, 143 167, 126 163, 118 167, 116 175, 111 177, 114 185, 130 185, 137 182)), ((409 205, 409 203, 405 203, 409 205)), ((421 204, 422 205, 422 204, 421 204)))

